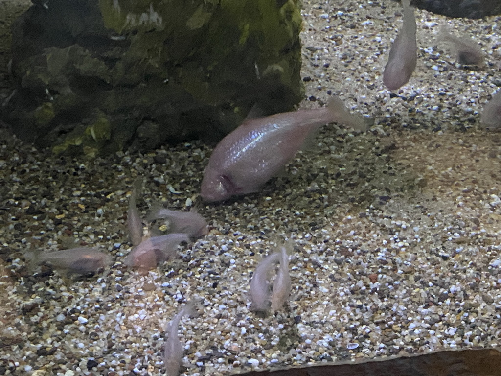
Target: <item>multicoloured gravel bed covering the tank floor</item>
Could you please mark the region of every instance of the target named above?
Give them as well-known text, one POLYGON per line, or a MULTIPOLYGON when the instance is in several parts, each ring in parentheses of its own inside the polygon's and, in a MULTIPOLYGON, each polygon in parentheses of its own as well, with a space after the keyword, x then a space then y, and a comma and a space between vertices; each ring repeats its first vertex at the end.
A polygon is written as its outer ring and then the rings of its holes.
POLYGON ((301 107, 332 91, 372 127, 323 127, 260 194, 203 204, 211 148, 199 141, 84 160, 2 130, 0 374, 160 374, 166 324, 192 299, 200 315, 179 329, 191 376, 499 346, 501 134, 484 131, 479 112, 501 86, 501 19, 416 11, 417 68, 390 95, 382 71, 399 4, 305 2, 303 15, 301 107), (446 22, 476 38, 485 66, 454 63, 436 39, 446 22), (142 214, 193 206, 210 225, 146 275, 123 265, 137 176, 142 214), (290 303, 250 312, 252 271, 291 236, 290 303), (114 264, 67 276, 27 260, 78 245, 114 264))

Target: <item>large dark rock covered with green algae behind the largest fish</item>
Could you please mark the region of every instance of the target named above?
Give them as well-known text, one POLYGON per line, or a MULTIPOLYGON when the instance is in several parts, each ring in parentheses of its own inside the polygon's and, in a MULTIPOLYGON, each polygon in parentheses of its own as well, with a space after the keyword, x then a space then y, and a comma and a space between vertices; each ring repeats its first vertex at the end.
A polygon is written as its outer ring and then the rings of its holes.
POLYGON ((11 120, 56 152, 216 141, 303 98, 299 0, 48 0, 13 26, 11 120))

